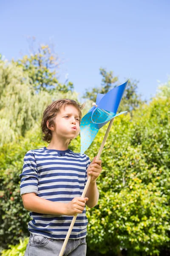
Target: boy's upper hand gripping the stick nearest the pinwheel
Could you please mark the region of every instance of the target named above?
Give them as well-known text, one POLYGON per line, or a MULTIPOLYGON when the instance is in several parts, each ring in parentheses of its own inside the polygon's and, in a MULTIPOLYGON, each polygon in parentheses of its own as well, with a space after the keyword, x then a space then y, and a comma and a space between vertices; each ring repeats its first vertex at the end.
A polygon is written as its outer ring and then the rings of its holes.
POLYGON ((90 163, 87 169, 88 175, 92 176, 91 182, 95 182, 102 172, 102 160, 96 160, 96 157, 94 157, 94 160, 90 163))

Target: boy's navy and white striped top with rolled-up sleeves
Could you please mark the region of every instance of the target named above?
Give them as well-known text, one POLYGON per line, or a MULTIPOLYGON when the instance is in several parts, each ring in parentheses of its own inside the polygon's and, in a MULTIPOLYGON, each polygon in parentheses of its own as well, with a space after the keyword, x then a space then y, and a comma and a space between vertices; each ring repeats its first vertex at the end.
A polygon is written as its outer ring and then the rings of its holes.
MULTIPOLYGON (((42 147, 26 153, 20 174, 20 195, 36 193, 50 201, 68 203, 82 195, 87 182, 87 168, 91 163, 86 154, 70 149, 59 151, 42 147)), ((34 235, 65 239, 73 216, 30 212, 28 230, 34 235)), ((70 239, 86 236, 86 211, 77 215, 70 239)))

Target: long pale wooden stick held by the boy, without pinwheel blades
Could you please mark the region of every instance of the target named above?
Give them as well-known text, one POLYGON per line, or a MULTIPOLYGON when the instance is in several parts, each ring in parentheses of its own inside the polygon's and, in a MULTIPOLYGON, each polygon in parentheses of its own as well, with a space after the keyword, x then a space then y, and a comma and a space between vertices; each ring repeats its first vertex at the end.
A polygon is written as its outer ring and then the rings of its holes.
MULTIPOLYGON (((103 150, 103 148, 104 148, 104 145, 105 145, 106 139, 107 139, 107 137, 108 137, 109 131, 111 130, 111 126, 112 126, 112 124, 113 124, 113 121, 114 121, 114 118, 113 118, 113 119, 110 121, 110 123, 109 123, 108 129, 107 129, 107 131, 106 131, 106 133, 105 133, 105 137, 104 137, 104 139, 103 139, 103 141, 102 141, 102 144, 101 144, 101 146, 100 146, 99 152, 98 152, 98 154, 97 154, 97 156, 96 156, 96 159, 97 159, 97 160, 100 158, 100 155, 102 154, 102 150, 103 150)), ((81 197, 83 197, 83 198, 85 197, 85 194, 86 194, 86 192, 87 192, 87 190, 88 190, 88 186, 89 186, 90 182, 91 182, 91 175, 88 176, 88 180, 87 180, 87 183, 85 184, 85 188, 84 188, 84 190, 83 190, 83 192, 82 192, 81 197)), ((72 219, 72 221, 71 221, 71 225, 70 225, 70 227, 69 227, 67 236, 65 237, 64 243, 62 244, 62 248, 61 248, 61 251, 60 251, 60 253, 59 253, 59 256, 62 256, 63 253, 64 253, 66 244, 67 244, 68 239, 69 239, 69 237, 70 237, 71 230, 73 229, 73 226, 74 226, 74 223, 75 223, 75 221, 76 221, 76 218, 77 218, 77 214, 74 215, 74 217, 73 217, 73 219, 72 219)))

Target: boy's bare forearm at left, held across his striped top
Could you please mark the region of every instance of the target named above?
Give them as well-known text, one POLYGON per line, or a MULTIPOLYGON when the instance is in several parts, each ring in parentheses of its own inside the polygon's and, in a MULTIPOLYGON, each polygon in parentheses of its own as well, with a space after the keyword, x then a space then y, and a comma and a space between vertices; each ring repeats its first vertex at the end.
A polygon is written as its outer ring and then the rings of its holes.
POLYGON ((24 208, 31 212, 54 214, 54 215, 67 215, 67 207, 65 203, 52 202, 44 198, 40 198, 37 195, 26 194, 23 198, 24 208))

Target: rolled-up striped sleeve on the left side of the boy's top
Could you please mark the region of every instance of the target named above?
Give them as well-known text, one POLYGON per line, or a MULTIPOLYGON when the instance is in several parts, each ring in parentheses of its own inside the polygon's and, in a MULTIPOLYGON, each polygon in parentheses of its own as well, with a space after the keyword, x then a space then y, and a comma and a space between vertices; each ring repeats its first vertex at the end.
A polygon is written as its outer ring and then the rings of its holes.
POLYGON ((23 172, 20 174, 20 195, 38 194, 38 171, 34 153, 28 151, 24 157, 23 172))

